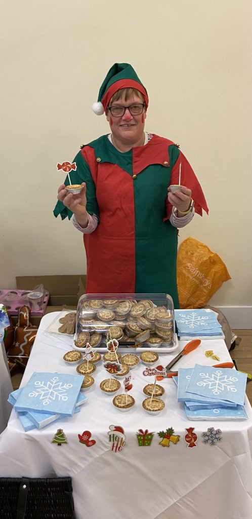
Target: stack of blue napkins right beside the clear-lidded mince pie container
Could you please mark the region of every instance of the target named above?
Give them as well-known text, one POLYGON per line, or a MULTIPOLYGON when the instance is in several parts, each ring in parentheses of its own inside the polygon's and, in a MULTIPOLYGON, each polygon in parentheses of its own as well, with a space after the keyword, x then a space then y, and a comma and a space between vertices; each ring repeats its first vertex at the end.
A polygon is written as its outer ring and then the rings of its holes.
POLYGON ((214 339, 225 337, 221 324, 217 320, 216 312, 200 308, 195 310, 174 310, 178 327, 178 336, 181 339, 214 339))

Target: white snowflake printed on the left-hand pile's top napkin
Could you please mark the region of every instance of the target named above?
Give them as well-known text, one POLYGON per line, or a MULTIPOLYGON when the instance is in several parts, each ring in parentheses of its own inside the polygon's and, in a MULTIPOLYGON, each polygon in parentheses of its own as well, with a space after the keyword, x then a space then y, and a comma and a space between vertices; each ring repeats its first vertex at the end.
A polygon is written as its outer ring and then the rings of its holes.
POLYGON ((53 400, 68 400, 67 390, 72 388, 73 384, 62 384, 59 377, 52 377, 46 384, 36 380, 35 386, 37 390, 29 393, 29 397, 38 397, 43 400, 43 405, 50 404, 53 400))

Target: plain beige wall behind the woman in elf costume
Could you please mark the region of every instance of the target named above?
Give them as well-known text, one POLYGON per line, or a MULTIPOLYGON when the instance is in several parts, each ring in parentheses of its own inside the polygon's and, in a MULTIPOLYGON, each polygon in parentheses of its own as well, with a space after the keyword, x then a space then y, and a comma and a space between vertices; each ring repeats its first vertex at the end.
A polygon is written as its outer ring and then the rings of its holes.
POLYGON ((126 61, 148 90, 146 129, 180 143, 204 189, 209 216, 195 216, 180 241, 192 236, 226 263, 232 280, 212 303, 252 304, 250 8, 250 0, 2 3, 2 288, 17 275, 86 271, 81 235, 52 214, 63 182, 56 164, 108 130, 91 105, 109 67, 126 61))

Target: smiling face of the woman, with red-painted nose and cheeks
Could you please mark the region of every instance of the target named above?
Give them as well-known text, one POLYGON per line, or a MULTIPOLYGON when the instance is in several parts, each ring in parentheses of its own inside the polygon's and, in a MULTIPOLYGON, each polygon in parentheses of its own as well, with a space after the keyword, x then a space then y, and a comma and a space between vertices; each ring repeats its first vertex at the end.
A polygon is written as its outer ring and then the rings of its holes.
MULTIPOLYGON (((122 97, 117 101, 112 101, 109 106, 130 106, 134 103, 143 103, 142 97, 139 97, 136 93, 132 93, 130 97, 125 101, 125 92, 122 97)), ((121 117, 113 117, 109 110, 106 114, 107 121, 114 138, 116 145, 122 148, 143 145, 144 139, 144 125, 146 118, 146 110, 139 115, 131 115, 129 110, 125 110, 124 115, 121 117)))

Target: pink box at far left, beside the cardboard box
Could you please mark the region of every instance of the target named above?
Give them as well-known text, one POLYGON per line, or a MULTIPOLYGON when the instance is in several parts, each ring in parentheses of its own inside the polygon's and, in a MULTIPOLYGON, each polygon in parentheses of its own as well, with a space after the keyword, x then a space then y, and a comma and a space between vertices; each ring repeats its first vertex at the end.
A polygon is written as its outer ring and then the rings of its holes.
POLYGON ((19 308, 23 305, 31 308, 32 316, 44 316, 48 299, 49 292, 46 290, 43 296, 36 298, 28 297, 28 294, 34 294, 33 290, 0 290, 0 303, 6 306, 6 309, 10 316, 17 316, 19 308))

